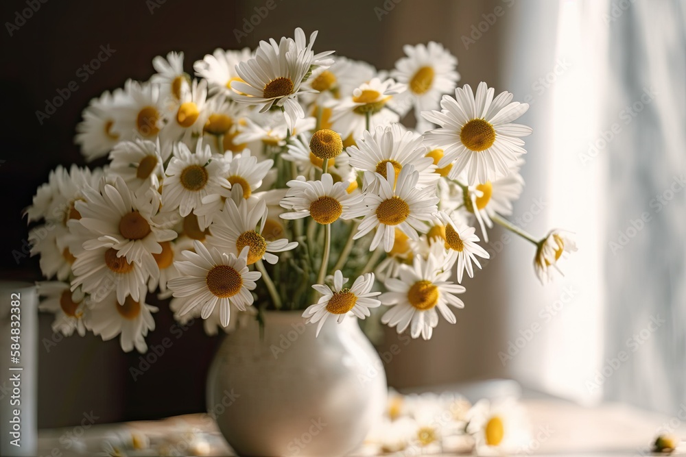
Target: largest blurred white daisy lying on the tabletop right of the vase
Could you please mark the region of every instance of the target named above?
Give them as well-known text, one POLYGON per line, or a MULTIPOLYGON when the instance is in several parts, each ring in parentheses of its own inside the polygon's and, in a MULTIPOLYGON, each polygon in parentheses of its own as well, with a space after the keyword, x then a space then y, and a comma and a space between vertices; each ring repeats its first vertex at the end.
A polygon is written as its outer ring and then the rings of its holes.
POLYGON ((512 455, 529 443, 528 419, 514 399, 482 399, 466 419, 466 432, 474 436, 477 455, 512 455))

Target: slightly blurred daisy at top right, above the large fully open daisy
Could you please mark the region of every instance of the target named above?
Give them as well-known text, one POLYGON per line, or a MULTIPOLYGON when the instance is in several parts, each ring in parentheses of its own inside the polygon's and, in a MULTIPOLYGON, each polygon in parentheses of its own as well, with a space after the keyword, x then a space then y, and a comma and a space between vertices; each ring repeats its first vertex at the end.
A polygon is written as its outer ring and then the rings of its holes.
POLYGON ((425 110, 435 110, 442 94, 455 89, 460 75, 455 71, 458 60, 437 42, 428 45, 405 45, 405 55, 395 62, 391 75, 405 84, 407 90, 399 95, 397 102, 414 105, 416 119, 425 110))

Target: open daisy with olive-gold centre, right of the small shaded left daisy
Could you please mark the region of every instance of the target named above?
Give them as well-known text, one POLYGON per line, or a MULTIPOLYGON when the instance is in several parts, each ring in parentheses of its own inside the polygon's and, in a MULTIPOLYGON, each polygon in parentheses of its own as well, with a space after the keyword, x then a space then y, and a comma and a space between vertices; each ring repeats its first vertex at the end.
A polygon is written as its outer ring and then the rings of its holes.
POLYGON ((165 212, 178 208, 181 216, 186 217, 199 208, 208 195, 228 197, 231 185, 225 177, 226 168, 224 160, 212 158, 210 148, 202 143, 202 138, 198 138, 196 153, 191 153, 184 143, 176 143, 162 188, 165 212))

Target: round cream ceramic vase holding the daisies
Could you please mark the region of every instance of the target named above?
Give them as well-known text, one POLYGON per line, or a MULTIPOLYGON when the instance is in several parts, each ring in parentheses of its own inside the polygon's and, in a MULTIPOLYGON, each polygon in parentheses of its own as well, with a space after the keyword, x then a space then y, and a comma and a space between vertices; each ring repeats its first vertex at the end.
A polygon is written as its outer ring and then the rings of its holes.
POLYGON ((265 312, 226 336, 212 362, 207 407, 240 456, 343 456, 386 405, 374 347, 346 317, 318 337, 301 312, 265 312))

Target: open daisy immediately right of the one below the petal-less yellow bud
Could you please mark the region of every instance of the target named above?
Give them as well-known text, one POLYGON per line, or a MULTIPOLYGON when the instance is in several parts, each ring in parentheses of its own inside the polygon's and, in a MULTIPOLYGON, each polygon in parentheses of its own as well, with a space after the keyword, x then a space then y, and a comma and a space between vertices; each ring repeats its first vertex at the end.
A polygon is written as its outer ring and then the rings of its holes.
POLYGON ((364 196, 367 208, 364 210, 364 220, 359 224, 354 239, 362 238, 372 230, 377 232, 369 247, 370 251, 377 249, 383 241, 383 250, 390 252, 395 240, 396 227, 407 236, 416 240, 419 232, 426 231, 423 221, 430 221, 431 214, 436 212, 436 191, 434 188, 416 188, 419 172, 414 166, 406 165, 400 171, 397 180, 393 164, 386 163, 386 178, 377 174, 379 180, 377 193, 364 196))

